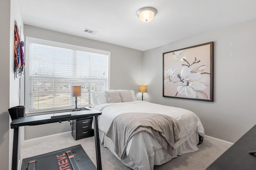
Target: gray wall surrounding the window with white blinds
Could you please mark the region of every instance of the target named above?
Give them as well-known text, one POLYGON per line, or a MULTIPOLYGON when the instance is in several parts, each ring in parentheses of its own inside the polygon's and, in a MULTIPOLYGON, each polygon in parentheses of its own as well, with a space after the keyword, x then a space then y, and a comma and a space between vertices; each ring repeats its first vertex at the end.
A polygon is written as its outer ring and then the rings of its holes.
MULTIPOLYGON (((110 51, 110 89, 131 89, 138 92, 138 84, 142 81, 142 51, 51 31, 31 25, 24 25, 24 35, 110 51)), ((69 122, 25 127, 25 140, 70 130, 69 122)))

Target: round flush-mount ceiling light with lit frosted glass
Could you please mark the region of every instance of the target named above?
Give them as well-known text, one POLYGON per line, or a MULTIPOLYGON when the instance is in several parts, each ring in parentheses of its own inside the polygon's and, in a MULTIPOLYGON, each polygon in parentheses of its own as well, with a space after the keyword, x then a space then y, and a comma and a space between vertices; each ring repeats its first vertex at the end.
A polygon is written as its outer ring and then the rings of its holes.
POLYGON ((143 7, 137 11, 137 16, 143 22, 149 22, 149 21, 153 20, 153 18, 154 18, 154 16, 156 16, 156 14, 157 14, 157 11, 153 7, 143 7))

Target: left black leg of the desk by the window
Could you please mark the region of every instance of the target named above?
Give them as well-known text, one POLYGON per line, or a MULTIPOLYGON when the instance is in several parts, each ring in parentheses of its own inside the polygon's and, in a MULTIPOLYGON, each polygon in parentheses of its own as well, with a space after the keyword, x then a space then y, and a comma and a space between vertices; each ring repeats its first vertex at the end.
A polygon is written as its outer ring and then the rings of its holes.
POLYGON ((12 170, 18 170, 18 143, 19 143, 19 127, 15 127, 13 134, 12 148, 12 170))

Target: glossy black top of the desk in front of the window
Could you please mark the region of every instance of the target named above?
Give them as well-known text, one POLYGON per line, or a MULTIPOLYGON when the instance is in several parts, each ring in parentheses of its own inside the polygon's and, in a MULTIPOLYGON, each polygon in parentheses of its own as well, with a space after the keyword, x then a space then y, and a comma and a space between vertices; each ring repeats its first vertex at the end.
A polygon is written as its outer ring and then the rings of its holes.
POLYGON ((10 124, 10 127, 14 128, 14 127, 20 127, 20 126, 42 125, 47 123, 81 119, 81 118, 96 116, 96 115, 101 115, 101 112, 95 109, 53 113, 53 114, 46 114, 46 115, 36 115, 36 116, 22 117, 20 119, 14 119, 10 124), (68 115, 68 114, 71 114, 71 115, 68 115), (52 116, 58 116, 58 115, 63 115, 63 117, 51 118, 52 116))

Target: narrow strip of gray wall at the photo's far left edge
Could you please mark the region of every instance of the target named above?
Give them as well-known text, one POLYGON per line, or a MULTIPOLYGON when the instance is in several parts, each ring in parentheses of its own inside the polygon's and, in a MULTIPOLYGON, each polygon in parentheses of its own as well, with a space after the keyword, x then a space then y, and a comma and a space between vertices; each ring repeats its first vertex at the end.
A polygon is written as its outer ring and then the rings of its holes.
POLYGON ((1 88, 0 88, 0 158, 1 169, 8 170, 9 156, 9 85, 10 85, 10 1, 3 0, 0 5, 0 51, 1 51, 1 88))

